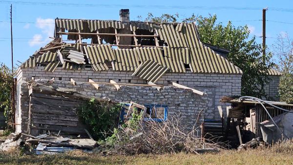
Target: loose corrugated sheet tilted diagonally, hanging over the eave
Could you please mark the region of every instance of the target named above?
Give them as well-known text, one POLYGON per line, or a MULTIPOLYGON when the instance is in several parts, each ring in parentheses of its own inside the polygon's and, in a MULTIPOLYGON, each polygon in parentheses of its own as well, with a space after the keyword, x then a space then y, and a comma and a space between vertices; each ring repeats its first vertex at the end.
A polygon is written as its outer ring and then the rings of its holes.
POLYGON ((168 67, 163 67, 158 62, 147 60, 139 65, 132 76, 140 77, 148 82, 157 82, 168 70, 168 67))

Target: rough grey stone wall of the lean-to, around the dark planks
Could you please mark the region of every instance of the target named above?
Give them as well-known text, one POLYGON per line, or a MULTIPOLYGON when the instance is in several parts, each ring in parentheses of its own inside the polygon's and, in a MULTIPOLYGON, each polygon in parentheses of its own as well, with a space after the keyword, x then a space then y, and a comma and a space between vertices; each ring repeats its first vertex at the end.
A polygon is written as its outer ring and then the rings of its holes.
MULTIPOLYGON (((38 83, 48 85, 48 80, 35 80, 38 83)), ((27 86, 28 82, 23 82, 21 86, 27 86)), ((205 110, 208 106, 207 95, 201 96, 193 93, 189 89, 181 89, 173 86, 166 86, 159 92, 154 87, 143 87, 143 86, 121 86, 120 90, 117 91, 113 85, 99 84, 100 87, 97 90, 92 84, 84 82, 76 82, 73 85, 72 82, 58 81, 55 80, 50 83, 52 86, 58 86, 63 88, 73 88, 79 93, 96 96, 98 98, 109 98, 114 102, 135 102, 139 104, 158 104, 167 105, 169 115, 181 115, 183 122, 192 127, 197 119, 197 115, 201 109, 205 110)), ((23 97, 22 103, 29 103, 28 88, 22 90, 27 91, 27 97, 23 97)), ((29 111, 29 104, 23 104, 21 106, 21 125, 17 125, 17 130, 27 132, 27 118, 29 111)))

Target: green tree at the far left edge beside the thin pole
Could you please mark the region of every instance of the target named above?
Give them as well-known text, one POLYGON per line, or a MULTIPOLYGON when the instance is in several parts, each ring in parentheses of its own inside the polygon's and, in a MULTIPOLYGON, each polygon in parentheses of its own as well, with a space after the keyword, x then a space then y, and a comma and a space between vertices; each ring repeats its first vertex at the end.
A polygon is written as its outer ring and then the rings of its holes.
POLYGON ((0 109, 4 110, 6 121, 12 117, 11 89, 14 84, 14 74, 5 64, 0 64, 0 109))

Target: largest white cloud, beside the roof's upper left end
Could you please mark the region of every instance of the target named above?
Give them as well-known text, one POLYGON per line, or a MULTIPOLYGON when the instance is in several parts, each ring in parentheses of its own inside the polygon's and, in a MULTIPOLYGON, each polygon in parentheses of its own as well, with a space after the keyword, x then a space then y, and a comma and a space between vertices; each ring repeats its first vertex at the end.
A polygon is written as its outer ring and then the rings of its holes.
POLYGON ((53 37, 55 21, 53 19, 37 18, 36 27, 42 30, 42 34, 35 34, 33 39, 28 42, 30 46, 42 45, 50 41, 49 37, 53 37), (43 40, 42 40, 43 39, 43 40))

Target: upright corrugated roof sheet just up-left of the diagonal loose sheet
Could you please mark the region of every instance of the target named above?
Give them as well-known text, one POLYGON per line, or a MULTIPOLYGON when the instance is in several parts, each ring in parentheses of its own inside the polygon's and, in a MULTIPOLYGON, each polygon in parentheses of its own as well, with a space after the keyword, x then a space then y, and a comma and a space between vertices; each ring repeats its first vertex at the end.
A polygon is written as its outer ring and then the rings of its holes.
POLYGON ((115 70, 134 71, 139 66, 139 58, 135 49, 114 49, 115 70))

